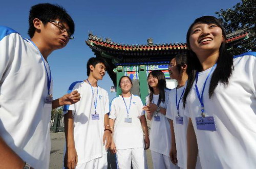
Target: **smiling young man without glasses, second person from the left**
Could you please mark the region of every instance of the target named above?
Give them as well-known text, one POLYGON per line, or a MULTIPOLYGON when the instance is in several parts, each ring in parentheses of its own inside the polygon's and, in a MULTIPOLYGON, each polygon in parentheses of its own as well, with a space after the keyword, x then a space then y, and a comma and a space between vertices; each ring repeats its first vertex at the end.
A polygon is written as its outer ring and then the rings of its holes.
POLYGON ((101 58, 90 58, 87 63, 88 78, 73 82, 69 92, 81 93, 81 101, 65 106, 67 168, 107 168, 107 151, 111 146, 109 125, 109 96, 97 85, 105 75, 101 58))

